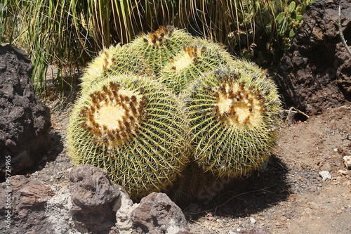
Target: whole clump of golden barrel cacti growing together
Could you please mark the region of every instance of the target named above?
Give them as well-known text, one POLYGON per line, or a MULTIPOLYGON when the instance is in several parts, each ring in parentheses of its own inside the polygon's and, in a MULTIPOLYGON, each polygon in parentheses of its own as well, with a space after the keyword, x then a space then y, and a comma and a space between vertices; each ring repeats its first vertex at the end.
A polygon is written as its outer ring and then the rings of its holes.
POLYGON ((190 164, 213 178, 248 175, 267 161, 279 125, 263 70, 173 27, 101 51, 81 87, 69 156, 105 169, 132 198, 201 179, 190 164))

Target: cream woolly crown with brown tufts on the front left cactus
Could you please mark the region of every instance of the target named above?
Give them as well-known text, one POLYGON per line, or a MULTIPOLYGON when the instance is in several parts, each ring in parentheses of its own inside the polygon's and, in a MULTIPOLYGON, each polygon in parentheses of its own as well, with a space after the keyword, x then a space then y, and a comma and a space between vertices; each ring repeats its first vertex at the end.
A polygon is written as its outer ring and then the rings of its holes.
POLYGON ((107 148, 127 141, 146 118, 147 98, 117 83, 103 86, 90 97, 91 104, 81 109, 80 117, 85 120, 81 126, 107 148))

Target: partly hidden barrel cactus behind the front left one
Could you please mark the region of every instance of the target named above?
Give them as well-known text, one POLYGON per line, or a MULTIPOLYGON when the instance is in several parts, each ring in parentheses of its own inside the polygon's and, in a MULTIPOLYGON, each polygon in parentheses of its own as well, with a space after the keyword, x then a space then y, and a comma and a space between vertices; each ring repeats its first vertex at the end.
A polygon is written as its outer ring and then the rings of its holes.
POLYGON ((86 68, 81 77, 82 92, 90 89, 95 83, 111 75, 133 74, 153 77, 152 67, 138 55, 138 51, 128 46, 110 46, 100 51, 99 55, 86 68))

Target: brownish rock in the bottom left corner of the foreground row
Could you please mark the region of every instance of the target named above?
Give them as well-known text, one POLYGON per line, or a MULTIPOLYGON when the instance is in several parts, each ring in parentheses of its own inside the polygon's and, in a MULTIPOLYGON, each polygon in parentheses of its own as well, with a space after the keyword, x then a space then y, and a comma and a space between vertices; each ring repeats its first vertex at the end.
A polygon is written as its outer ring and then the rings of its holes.
POLYGON ((50 186, 17 175, 1 183, 0 191, 0 233, 55 233, 45 215, 46 204, 55 195, 50 186))

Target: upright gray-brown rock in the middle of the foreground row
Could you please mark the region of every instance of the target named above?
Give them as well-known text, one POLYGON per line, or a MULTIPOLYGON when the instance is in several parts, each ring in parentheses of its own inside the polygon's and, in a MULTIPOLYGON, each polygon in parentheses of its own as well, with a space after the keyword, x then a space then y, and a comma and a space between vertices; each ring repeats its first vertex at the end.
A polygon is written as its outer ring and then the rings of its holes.
POLYGON ((109 233, 116 221, 114 204, 120 197, 119 186, 110 181, 107 171, 91 165, 72 169, 69 180, 71 212, 78 230, 109 233))

